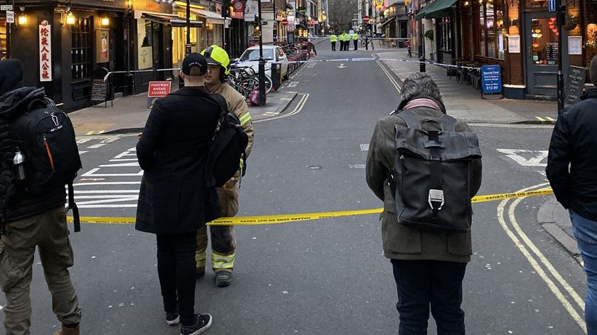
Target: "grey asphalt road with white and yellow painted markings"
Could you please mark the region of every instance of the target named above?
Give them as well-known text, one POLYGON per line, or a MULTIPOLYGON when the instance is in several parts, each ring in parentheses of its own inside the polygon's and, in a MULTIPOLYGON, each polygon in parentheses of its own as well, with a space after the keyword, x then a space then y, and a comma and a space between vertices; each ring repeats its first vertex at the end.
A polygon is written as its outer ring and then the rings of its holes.
MULTIPOLYGON (((370 56, 326 47, 318 46, 318 59, 370 56)), ((282 117, 254 124, 240 215, 382 206, 365 183, 362 145, 398 103, 382 65, 310 63, 286 85, 299 95, 282 117)), ((473 129, 484 155, 480 194, 544 187, 549 126, 473 129)), ((141 180, 135 143, 134 134, 80 138, 87 151, 75 186, 82 216, 134 217, 141 180)), ((584 274, 537 223, 543 201, 473 206, 474 255, 463 284, 468 334, 584 334, 584 274)), ((85 224, 71 237, 82 334, 179 334, 164 321, 154 235, 85 224)), ((240 227, 237 245, 230 287, 215 287, 212 273, 198 280, 195 309, 214 318, 205 334, 397 333, 396 289, 377 216, 240 227)), ((33 334, 48 334, 59 325, 38 260, 31 296, 33 334)))

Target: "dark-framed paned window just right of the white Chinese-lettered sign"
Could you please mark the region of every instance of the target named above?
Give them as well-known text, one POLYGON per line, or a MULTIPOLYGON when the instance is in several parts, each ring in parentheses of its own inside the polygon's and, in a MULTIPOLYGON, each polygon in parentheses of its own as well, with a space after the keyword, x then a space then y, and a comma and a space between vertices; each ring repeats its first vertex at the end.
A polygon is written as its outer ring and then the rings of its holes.
POLYGON ((72 47, 70 56, 72 80, 81 80, 91 75, 93 50, 91 36, 91 18, 77 18, 72 26, 72 47))

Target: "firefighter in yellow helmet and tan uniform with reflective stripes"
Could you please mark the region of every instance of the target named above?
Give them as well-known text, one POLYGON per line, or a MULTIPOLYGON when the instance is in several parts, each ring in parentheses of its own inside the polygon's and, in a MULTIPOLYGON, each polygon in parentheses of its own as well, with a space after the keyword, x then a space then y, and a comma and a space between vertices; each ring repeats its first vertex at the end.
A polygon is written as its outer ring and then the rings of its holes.
MULTIPOLYGON (((228 110, 240 119, 244 132, 249 136, 249 144, 245 156, 249 156, 253 146, 253 124, 249 107, 244 97, 232 86, 226 83, 226 76, 230 74, 230 58, 226 50, 220 46, 209 46, 201 52, 208 60, 208 73, 205 76, 205 86, 213 94, 225 98, 228 110)), ((241 164, 242 166, 242 164, 241 164)), ((238 213, 238 186, 240 172, 232 177, 223 187, 217 188, 222 216, 230 217, 238 213)), ((235 230, 232 225, 215 225, 209 228, 212 244, 212 268, 215 272, 215 285, 226 287, 232 282, 232 268, 235 262, 235 230)), ((205 274, 206 250, 208 248, 208 228, 202 227, 197 231, 197 250, 195 252, 196 275, 205 274)))

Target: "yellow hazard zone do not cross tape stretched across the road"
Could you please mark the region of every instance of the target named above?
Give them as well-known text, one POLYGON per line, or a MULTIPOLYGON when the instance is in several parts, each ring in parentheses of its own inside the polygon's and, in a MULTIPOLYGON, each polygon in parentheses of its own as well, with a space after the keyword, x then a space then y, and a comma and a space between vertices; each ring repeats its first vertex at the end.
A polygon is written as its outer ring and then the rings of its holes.
MULTIPOLYGON (((490 194, 487 196, 475 196, 470 200, 471 203, 484 203, 488 201, 499 201, 511 198, 522 198, 523 196, 543 196, 552 194, 551 188, 544 188, 537 191, 515 192, 490 194)), ((208 225, 271 225, 276 223, 289 223, 306 220, 321 220, 326 218, 338 218, 341 216, 361 216, 367 214, 382 213, 383 208, 362 209, 357 211, 338 211, 321 213, 303 213, 303 214, 281 214, 274 216, 235 216, 233 218, 219 218, 208 223, 208 225)), ((135 223, 135 218, 104 218, 99 216, 85 216, 80 218, 82 223, 102 223, 102 224, 131 224, 135 223)), ((72 222, 72 216, 68 217, 72 222)))

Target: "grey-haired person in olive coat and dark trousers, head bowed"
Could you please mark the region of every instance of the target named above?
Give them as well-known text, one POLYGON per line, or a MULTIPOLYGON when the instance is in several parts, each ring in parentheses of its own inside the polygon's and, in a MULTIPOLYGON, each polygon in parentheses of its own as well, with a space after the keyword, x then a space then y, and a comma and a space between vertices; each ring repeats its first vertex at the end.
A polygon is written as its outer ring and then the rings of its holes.
MULTIPOLYGON (((402 111, 409 110, 410 115, 423 117, 421 129, 433 132, 440 130, 439 124, 426 121, 443 117, 446 107, 439 88, 426 73, 414 73, 407 78, 400 95, 402 102, 397 110, 375 125, 366 165, 367 185, 384 202, 383 249, 392 263, 397 285, 399 334, 427 334, 431 307, 439 335, 463 335, 462 282, 472 253, 470 229, 447 233, 402 224, 393 192, 401 180, 393 179, 390 183, 389 179, 396 159, 394 127, 407 127, 402 111)), ((454 126, 456 132, 470 132, 465 122, 456 120, 454 126)), ((480 158, 471 161, 470 175, 471 193, 462 194, 463 197, 474 196, 480 188, 480 158)), ((470 216, 465 220, 470 227, 470 216)))

